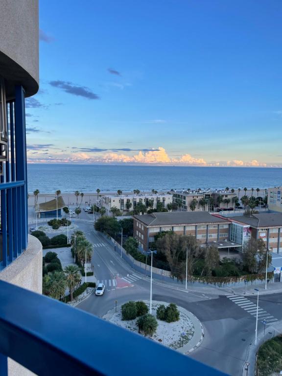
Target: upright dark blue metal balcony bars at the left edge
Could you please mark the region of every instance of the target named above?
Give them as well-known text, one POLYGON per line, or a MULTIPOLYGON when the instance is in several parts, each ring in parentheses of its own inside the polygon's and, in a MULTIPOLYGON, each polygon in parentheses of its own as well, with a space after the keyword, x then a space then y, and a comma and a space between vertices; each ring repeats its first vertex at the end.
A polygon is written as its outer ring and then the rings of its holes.
POLYGON ((9 134, 7 161, 0 176, 0 270, 27 247, 27 185, 24 89, 15 88, 15 100, 6 105, 9 134))

